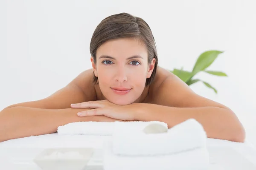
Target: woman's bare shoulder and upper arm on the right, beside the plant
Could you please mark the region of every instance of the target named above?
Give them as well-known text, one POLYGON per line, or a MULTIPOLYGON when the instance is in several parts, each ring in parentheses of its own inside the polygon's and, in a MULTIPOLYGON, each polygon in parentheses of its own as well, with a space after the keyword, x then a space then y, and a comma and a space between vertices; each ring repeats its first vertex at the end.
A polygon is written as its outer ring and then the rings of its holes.
POLYGON ((172 72, 159 68, 154 83, 150 87, 150 102, 178 108, 219 107, 226 106, 196 94, 172 72))

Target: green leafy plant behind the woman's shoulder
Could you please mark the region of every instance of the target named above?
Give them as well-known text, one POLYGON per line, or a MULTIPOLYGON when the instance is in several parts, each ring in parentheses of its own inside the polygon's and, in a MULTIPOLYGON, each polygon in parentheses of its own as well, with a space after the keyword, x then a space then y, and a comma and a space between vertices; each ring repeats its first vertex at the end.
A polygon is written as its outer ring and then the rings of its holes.
POLYGON ((208 68, 212 64, 212 62, 214 62, 214 60, 218 57, 218 55, 223 52, 224 51, 213 51, 213 50, 205 51, 198 57, 192 71, 184 71, 183 68, 181 68, 181 69, 175 68, 171 72, 173 74, 175 74, 177 77, 179 77, 183 82, 186 82, 187 85, 192 85, 196 82, 201 81, 204 83, 204 85, 206 85, 208 88, 211 88, 212 90, 214 90, 215 93, 217 94, 217 90, 215 88, 213 88, 209 83, 204 82, 200 79, 193 79, 193 77, 201 71, 204 71, 208 74, 212 74, 215 76, 226 76, 227 77, 227 74, 225 74, 221 71, 206 70, 206 68, 208 68))

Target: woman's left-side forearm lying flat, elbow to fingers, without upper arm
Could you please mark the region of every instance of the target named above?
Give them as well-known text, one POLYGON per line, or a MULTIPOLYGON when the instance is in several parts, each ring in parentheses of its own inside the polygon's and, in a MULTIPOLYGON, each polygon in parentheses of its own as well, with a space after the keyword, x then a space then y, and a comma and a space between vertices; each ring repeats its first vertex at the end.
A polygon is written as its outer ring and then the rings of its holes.
POLYGON ((79 117, 79 111, 89 109, 39 109, 28 107, 7 108, 0 112, 0 142, 26 136, 57 131, 58 126, 71 122, 114 122, 106 116, 79 117))

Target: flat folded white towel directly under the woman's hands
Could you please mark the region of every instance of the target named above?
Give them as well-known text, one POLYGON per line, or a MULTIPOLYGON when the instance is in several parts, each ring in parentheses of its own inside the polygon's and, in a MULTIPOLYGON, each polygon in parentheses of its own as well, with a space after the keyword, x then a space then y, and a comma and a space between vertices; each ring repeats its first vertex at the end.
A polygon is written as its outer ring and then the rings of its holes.
MULTIPOLYGON (((124 125, 125 129, 136 130, 139 131, 145 126, 151 123, 158 123, 163 125, 167 128, 167 124, 164 122, 159 121, 150 121, 150 122, 143 122, 143 121, 136 121, 136 122, 119 122, 118 125, 124 125)), ((59 126, 58 127, 58 135, 112 135, 114 124, 116 122, 74 122, 68 123, 67 125, 59 126)), ((128 131, 128 130, 126 130, 128 131)))

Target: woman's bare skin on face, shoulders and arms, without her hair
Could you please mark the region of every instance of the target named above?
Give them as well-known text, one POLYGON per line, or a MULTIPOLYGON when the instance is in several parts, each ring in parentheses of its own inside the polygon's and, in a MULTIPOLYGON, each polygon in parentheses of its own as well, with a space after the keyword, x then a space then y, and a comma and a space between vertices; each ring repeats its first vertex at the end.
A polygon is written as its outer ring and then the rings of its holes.
MULTIPOLYGON (((97 50, 96 64, 91 59, 93 69, 82 72, 64 88, 45 99, 18 103, 0 111, 0 142, 54 133, 58 126, 70 122, 125 121, 117 118, 122 116, 118 113, 112 117, 105 115, 79 117, 78 112, 92 109, 70 106, 72 103, 106 99, 116 105, 121 103, 120 105, 131 107, 145 103, 136 109, 143 113, 137 114, 138 119, 135 120, 159 120, 167 122, 168 127, 172 127, 186 119, 195 118, 203 125, 208 137, 244 141, 244 128, 230 108, 195 94, 185 82, 164 68, 158 67, 152 84, 145 87, 145 80, 151 76, 154 68, 154 59, 148 63, 147 54, 145 45, 134 39, 105 42, 97 50), (101 58, 102 55, 112 58, 101 58), (134 55, 141 57, 136 60, 129 59, 134 55), (99 78, 99 85, 93 83, 93 74, 99 78), (132 90, 127 95, 117 95, 113 93, 111 87, 125 87, 132 90)), ((125 116, 129 114, 126 113, 125 116)))

